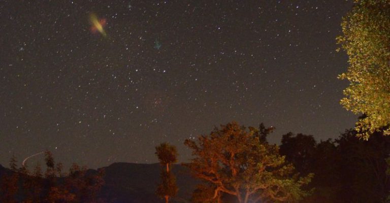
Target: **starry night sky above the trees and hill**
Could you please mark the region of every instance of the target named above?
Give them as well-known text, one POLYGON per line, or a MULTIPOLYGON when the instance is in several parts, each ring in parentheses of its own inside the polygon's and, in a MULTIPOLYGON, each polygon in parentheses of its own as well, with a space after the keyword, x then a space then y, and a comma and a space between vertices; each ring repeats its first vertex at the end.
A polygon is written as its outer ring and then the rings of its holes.
POLYGON ((357 119, 339 104, 335 51, 351 6, 1 1, 0 164, 43 150, 66 166, 155 163, 161 142, 186 161, 185 139, 232 120, 274 126, 273 143, 336 138, 357 119))

